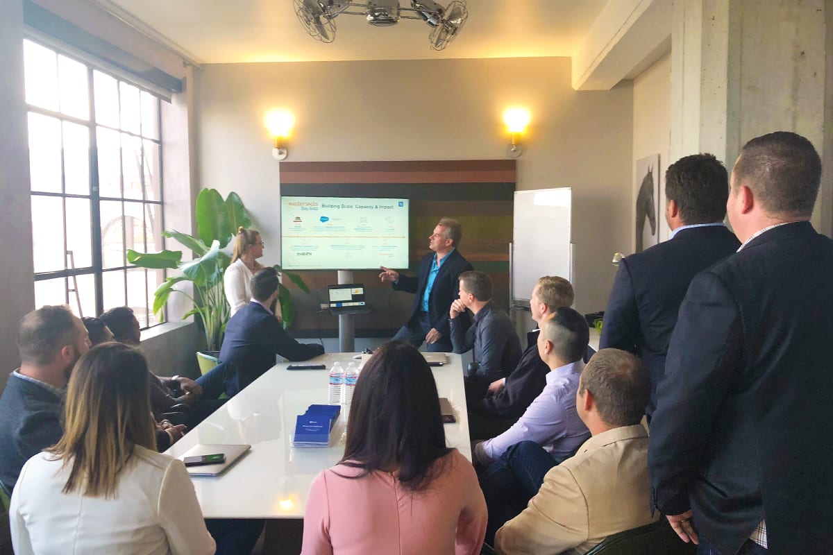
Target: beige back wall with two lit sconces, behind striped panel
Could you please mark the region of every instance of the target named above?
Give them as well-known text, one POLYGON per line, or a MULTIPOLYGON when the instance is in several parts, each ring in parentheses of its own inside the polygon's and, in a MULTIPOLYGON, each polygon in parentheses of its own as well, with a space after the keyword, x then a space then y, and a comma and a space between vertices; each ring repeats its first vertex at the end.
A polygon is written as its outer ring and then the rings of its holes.
POLYGON ((601 310, 611 253, 631 228, 633 99, 630 83, 575 92, 570 80, 569 58, 208 65, 197 82, 200 180, 242 196, 264 260, 277 261, 270 107, 296 116, 290 161, 362 161, 504 158, 501 112, 525 105, 517 186, 573 187, 576 307, 601 310))

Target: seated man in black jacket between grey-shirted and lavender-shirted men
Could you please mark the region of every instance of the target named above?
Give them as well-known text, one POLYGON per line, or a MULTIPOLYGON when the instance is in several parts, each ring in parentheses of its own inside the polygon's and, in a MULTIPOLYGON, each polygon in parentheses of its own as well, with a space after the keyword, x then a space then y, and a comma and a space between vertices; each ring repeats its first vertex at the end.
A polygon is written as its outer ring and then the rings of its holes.
MULTIPOLYGON (((574 297, 569 281, 558 276, 541 277, 530 295, 532 320, 541 325, 557 309, 571 306, 574 297)), ((489 385, 486 399, 467 404, 472 440, 503 434, 541 394, 550 367, 538 355, 539 333, 536 329, 526 334, 526 350, 515 369, 506 378, 496 379, 489 385)))

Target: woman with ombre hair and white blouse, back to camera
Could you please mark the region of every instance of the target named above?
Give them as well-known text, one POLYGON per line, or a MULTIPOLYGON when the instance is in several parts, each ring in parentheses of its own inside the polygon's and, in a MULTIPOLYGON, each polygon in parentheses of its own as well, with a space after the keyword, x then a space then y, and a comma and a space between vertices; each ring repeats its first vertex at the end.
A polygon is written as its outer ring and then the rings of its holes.
POLYGON ((66 431, 23 466, 9 521, 17 555, 209 555, 181 461, 156 452, 147 363, 136 349, 90 349, 67 386, 66 431))

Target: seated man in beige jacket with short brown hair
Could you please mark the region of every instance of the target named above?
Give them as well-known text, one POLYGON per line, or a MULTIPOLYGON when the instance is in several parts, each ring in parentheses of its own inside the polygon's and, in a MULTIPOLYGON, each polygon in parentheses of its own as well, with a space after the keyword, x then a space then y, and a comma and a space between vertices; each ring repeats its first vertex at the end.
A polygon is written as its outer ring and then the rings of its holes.
POLYGON ((651 378, 636 356, 619 349, 593 355, 576 394, 592 437, 546 473, 523 513, 497 531, 497 553, 586 553, 611 534, 656 520, 640 424, 650 395, 651 378))

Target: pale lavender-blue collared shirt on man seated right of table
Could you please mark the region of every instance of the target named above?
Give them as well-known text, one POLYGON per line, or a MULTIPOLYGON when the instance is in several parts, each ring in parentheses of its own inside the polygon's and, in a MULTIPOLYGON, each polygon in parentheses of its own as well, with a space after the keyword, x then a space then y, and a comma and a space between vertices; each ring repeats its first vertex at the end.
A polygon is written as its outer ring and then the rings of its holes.
POLYGON ((571 457, 590 431, 576 412, 576 391, 584 361, 577 360, 546 374, 546 385, 523 416, 510 429, 482 444, 495 461, 506 449, 521 441, 534 441, 559 460, 571 457))

